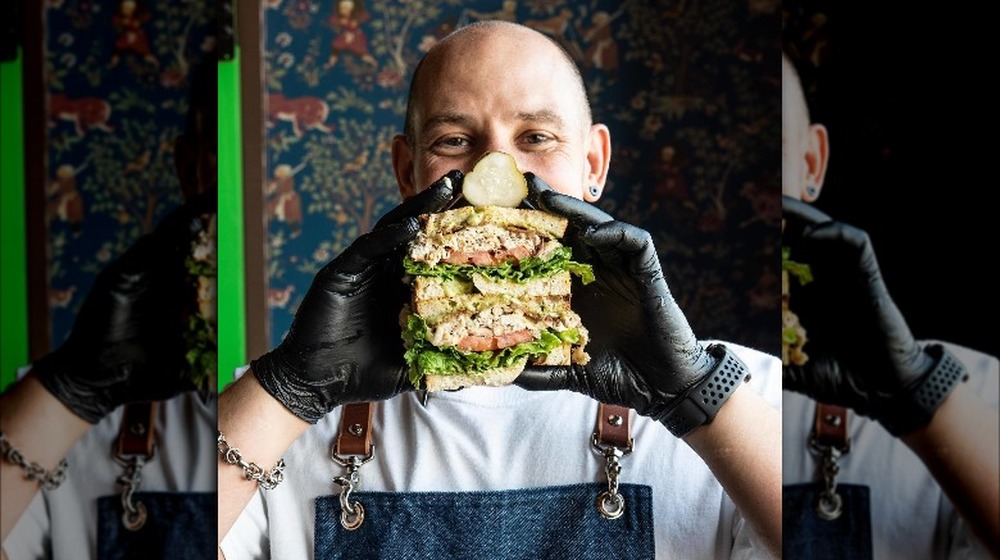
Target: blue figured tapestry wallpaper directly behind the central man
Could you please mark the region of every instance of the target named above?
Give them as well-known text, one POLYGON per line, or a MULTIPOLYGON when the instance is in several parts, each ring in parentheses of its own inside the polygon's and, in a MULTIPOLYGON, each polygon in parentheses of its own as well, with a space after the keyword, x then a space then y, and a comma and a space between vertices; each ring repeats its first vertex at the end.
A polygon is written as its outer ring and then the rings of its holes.
POLYGON ((313 275, 398 203, 390 143, 420 57, 504 19, 577 61, 612 134, 599 205, 652 233, 696 334, 777 354, 780 17, 775 0, 266 0, 271 345, 313 275))

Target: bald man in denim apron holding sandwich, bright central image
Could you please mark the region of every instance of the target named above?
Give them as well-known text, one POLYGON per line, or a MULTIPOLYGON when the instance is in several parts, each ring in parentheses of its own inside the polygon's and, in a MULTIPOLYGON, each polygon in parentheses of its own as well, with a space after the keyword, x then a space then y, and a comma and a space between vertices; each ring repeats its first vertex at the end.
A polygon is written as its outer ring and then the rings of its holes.
POLYGON ((649 235, 590 204, 610 154, 575 65, 545 36, 491 22, 428 52, 392 146, 405 202, 317 275, 282 344, 220 397, 220 555, 777 554, 778 360, 695 338, 649 235), (533 174, 528 202, 566 216, 570 242, 591 255, 597 281, 574 295, 574 308, 593 359, 422 404, 402 361, 400 273, 386 271, 415 235, 414 216, 452 202, 453 182, 441 178, 489 151, 533 174), (702 412, 689 395, 723 382, 724 369, 731 396, 702 412), (341 405, 359 401, 377 401, 377 445, 352 481, 330 446, 365 433, 364 416, 339 426, 341 405), (594 452, 598 401, 638 413, 630 454, 594 452), (354 483, 364 492, 341 493, 354 483), (608 505, 602 493, 615 496, 609 518, 598 511, 608 505))

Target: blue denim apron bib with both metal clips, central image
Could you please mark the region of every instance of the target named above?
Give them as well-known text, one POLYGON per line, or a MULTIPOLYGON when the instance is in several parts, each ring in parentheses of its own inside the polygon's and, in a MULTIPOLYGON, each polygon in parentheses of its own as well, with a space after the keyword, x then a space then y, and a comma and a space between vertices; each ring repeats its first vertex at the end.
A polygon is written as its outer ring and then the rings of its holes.
POLYGON ((338 558, 612 559, 654 557, 652 489, 621 484, 625 511, 605 519, 607 484, 483 492, 358 492, 365 520, 349 531, 340 497, 316 498, 317 560, 338 558))

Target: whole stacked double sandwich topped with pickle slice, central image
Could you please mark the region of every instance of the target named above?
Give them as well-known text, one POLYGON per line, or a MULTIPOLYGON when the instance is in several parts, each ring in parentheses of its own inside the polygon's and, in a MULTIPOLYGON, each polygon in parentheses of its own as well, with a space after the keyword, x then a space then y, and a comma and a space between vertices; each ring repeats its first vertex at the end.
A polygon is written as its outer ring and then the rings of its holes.
MULTIPOLYGON (((513 158, 492 152, 465 177, 466 200, 484 200, 477 191, 483 174, 477 172, 487 168, 490 188, 504 196, 511 190, 503 186, 505 173, 514 189, 524 181, 513 158)), ((421 382, 428 391, 507 385, 529 364, 589 361, 588 331, 570 302, 573 276, 584 283, 594 276, 559 241, 565 218, 485 204, 420 220, 421 231, 403 262, 411 300, 400 314, 414 387, 421 382)))

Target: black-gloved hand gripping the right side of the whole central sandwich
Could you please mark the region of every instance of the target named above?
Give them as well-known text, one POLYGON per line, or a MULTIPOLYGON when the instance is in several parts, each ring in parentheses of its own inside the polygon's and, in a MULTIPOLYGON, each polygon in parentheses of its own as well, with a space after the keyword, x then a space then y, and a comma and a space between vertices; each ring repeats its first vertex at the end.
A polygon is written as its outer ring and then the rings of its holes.
POLYGON ((590 362, 528 366, 515 383, 532 390, 570 389, 627 406, 663 422, 678 437, 710 422, 715 411, 696 410, 699 405, 688 396, 699 398, 695 393, 703 382, 726 364, 732 379, 719 380, 725 388, 710 397, 721 406, 743 381, 745 366, 734 364, 721 345, 699 344, 670 294, 649 233, 556 193, 531 173, 525 177, 527 205, 569 219, 564 241, 575 260, 594 267, 596 280, 573 287, 573 309, 590 331, 590 362))

